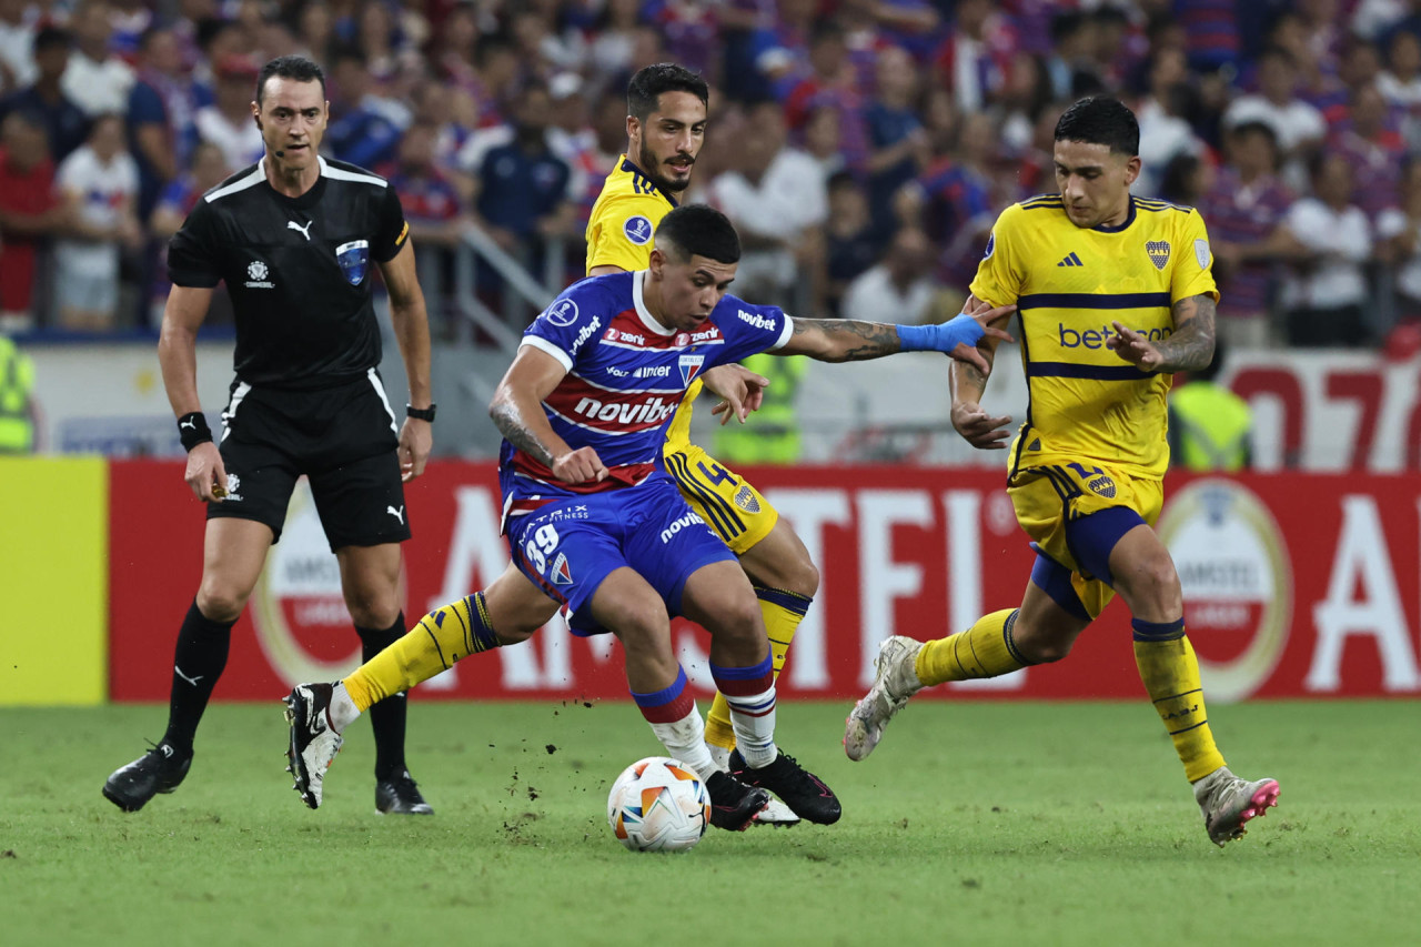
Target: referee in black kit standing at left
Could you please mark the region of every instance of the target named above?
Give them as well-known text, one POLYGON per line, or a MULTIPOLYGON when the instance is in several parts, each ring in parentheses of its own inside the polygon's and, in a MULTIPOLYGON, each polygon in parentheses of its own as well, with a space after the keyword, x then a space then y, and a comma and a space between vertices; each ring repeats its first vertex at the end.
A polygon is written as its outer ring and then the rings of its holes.
MULTIPOLYGON (((173 287, 158 358, 188 449, 185 479, 207 503, 207 526, 202 584, 178 631, 168 731, 104 783, 125 812, 188 775, 232 626, 281 536, 298 476, 310 481, 340 560, 365 660, 405 633, 396 594, 399 543, 409 539, 402 483, 423 472, 435 419, 409 226, 389 182, 317 154, 330 102, 315 63, 267 63, 252 115, 266 155, 203 195, 169 247, 173 287), (404 422, 377 371, 372 263, 389 291, 409 378, 404 422), (195 340, 219 282, 232 294, 237 347, 215 441, 198 402, 195 340)), ((371 721, 377 809, 429 813, 405 768, 405 701, 372 708, 371 721)))

